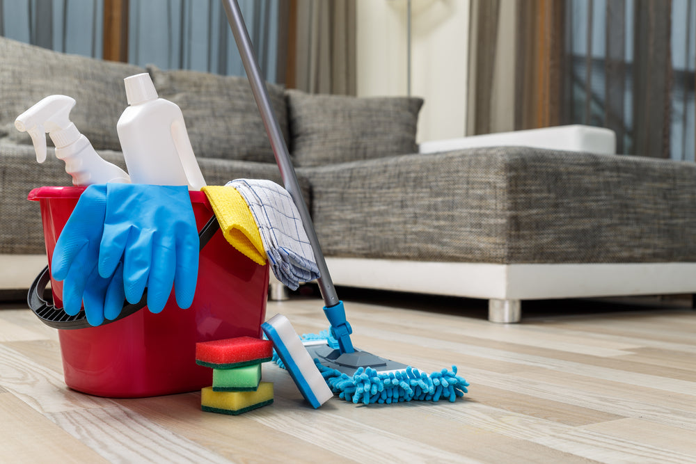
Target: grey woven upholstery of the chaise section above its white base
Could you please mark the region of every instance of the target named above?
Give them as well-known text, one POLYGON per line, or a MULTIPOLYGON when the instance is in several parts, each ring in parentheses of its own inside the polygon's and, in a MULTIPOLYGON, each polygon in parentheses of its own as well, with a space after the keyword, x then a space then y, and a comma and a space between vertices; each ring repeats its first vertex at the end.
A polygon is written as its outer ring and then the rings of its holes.
POLYGON ((696 261, 696 165, 491 147, 306 170, 327 256, 696 261), (356 182, 360 179, 360 182, 356 182))

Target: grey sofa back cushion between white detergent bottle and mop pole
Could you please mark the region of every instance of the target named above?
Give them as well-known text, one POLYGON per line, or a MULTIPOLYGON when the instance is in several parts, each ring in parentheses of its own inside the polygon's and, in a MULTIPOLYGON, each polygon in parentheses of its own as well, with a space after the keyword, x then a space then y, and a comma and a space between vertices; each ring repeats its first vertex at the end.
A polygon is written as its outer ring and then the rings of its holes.
MULTIPOLYGON (((159 96, 179 105, 196 157, 275 163, 271 143, 246 77, 188 70, 148 70, 159 96)), ((267 84, 287 142, 283 88, 267 84)))

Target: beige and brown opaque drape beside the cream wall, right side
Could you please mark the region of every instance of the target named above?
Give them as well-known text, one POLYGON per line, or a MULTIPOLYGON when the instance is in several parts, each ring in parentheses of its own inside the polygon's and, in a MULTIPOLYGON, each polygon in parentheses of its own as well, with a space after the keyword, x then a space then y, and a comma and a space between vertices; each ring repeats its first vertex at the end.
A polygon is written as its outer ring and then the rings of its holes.
POLYGON ((564 3, 471 0, 466 134, 557 125, 564 3))

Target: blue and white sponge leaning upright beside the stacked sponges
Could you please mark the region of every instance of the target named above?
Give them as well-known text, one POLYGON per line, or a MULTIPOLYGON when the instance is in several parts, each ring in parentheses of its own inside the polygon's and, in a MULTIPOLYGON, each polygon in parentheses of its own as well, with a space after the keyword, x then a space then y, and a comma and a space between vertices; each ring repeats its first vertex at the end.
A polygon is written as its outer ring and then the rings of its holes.
POLYGON ((276 314, 264 322, 261 328, 273 342, 278 357, 285 364, 302 396, 314 408, 329 401, 333 393, 287 317, 276 314))

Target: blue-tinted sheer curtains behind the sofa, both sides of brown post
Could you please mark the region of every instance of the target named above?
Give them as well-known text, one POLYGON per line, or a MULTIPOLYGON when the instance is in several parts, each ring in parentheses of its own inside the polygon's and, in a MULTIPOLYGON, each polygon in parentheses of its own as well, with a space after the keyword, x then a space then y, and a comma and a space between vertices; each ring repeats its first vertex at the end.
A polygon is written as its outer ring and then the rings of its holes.
MULTIPOLYGON (((287 1, 239 0, 267 81, 283 83, 287 1)), ((219 0, 130 0, 128 61, 161 69, 244 75, 219 0)), ((102 58, 104 0, 0 0, 0 35, 102 58)))

